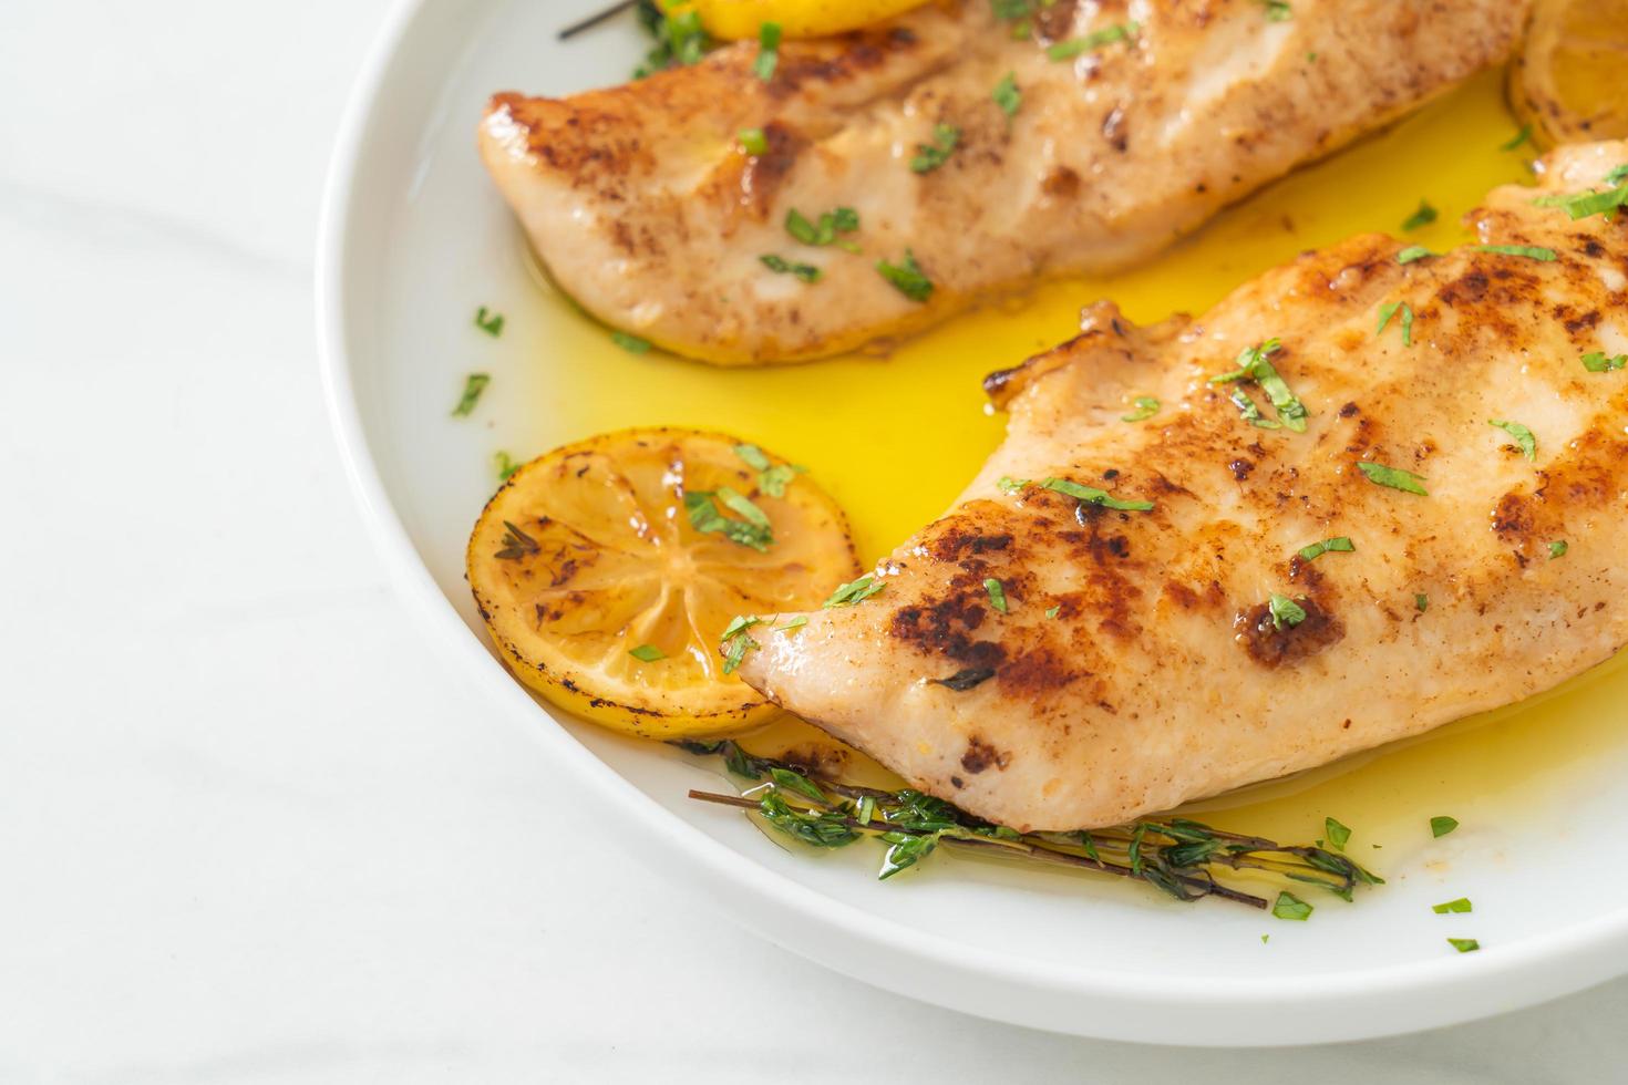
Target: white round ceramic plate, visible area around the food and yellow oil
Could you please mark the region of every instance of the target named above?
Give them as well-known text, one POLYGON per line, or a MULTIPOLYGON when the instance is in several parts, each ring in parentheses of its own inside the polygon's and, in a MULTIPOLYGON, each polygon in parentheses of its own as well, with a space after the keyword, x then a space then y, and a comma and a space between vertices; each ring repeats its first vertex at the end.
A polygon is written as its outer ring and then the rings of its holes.
MULTIPOLYGON (((534 333, 542 351, 470 335, 477 303, 545 319, 524 246, 474 155, 474 122, 493 89, 565 93, 625 73, 643 49, 630 24, 568 47, 554 39, 593 7, 399 7, 335 155, 319 322, 335 425, 384 556, 446 657, 490 690, 493 714, 542 742, 558 773, 586 782, 596 830, 752 930, 835 970, 970 1013, 1089 1036, 1356 1039, 1511 1010, 1628 970, 1620 904, 1628 864, 1612 830, 1628 765, 1613 745, 1576 752, 1595 771, 1576 778, 1553 817, 1467 823, 1444 841, 1387 851, 1384 891, 1289 924, 1214 901, 1180 906, 1135 887, 1014 880, 1004 867, 954 861, 882 885, 874 854, 791 854, 744 818, 687 802, 689 787, 716 782, 694 763, 550 719, 488 652, 462 548, 493 488, 492 451, 537 452, 565 433, 557 421, 570 403, 550 399, 549 371, 571 364, 583 329, 562 322, 534 333), (449 402, 474 368, 510 392, 493 397, 479 423, 453 421, 449 402), (1480 953, 1444 950, 1442 934, 1457 930, 1421 922, 1431 903, 1462 893, 1477 901, 1480 953), (1270 947, 1260 940, 1267 932, 1270 947)), ((1621 701, 1586 708, 1620 714, 1621 701)))

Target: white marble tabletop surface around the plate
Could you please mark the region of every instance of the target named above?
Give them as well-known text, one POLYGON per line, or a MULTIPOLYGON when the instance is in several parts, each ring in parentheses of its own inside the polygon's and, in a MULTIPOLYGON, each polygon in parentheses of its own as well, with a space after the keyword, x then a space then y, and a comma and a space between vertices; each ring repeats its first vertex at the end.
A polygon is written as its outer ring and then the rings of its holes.
POLYGON ((563 833, 322 413, 316 208, 383 8, 0 3, 0 1082, 1620 1077, 1628 981, 1341 1048, 1089 1043, 829 974, 563 833))

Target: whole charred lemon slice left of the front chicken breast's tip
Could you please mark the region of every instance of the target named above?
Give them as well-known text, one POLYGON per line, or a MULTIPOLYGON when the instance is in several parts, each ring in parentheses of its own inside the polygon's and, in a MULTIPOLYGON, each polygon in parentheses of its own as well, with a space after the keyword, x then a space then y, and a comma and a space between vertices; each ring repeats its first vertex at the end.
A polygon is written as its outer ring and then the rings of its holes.
POLYGON ((801 468, 716 433, 627 429, 510 477, 467 569, 521 682, 606 727, 681 739, 772 717, 726 673, 724 628, 819 607, 858 561, 842 509, 801 468))

